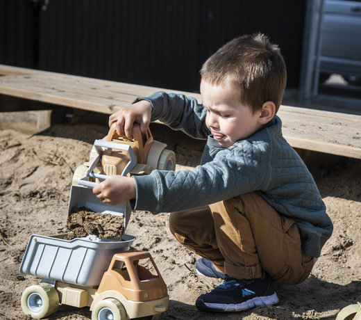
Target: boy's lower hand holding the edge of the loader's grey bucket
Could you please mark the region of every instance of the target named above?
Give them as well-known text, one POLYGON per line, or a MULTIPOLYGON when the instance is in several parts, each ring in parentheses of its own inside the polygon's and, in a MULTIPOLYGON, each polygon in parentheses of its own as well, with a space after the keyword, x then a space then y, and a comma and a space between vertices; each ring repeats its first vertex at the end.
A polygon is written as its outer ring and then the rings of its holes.
POLYGON ((110 175, 103 182, 94 186, 93 193, 103 203, 119 205, 121 202, 136 198, 135 179, 122 175, 110 175))

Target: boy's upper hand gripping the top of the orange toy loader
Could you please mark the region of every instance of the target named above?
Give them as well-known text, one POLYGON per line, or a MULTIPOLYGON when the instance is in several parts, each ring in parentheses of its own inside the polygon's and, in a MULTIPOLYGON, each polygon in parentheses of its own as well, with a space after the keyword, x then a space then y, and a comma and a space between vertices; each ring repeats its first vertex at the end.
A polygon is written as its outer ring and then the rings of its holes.
POLYGON ((151 103, 146 100, 141 100, 125 109, 113 113, 109 117, 109 127, 112 123, 117 122, 115 126, 119 136, 126 136, 133 139, 132 129, 133 123, 140 123, 140 130, 145 133, 151 122, 151 103))

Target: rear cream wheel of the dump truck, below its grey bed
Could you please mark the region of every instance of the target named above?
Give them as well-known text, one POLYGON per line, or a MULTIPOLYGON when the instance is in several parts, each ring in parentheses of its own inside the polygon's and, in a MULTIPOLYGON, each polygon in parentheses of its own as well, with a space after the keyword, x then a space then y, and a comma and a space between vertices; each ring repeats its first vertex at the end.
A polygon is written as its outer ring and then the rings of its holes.
POLYGON ((27 287, 22 294, 22 310, 35 319, 42 319, 58 309, 59 296, 49 283, 27 287))

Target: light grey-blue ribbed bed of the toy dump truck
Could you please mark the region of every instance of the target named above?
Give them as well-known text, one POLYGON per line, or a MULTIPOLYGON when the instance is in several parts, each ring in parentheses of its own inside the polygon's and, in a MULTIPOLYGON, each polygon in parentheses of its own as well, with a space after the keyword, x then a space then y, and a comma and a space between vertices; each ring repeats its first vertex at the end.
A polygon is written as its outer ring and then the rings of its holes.
POLYGON ((135 240, 127 234, 124 234, 123 241, 83 238, 67 241, 64 237, 32 234, 19 273, 96 287, 112 256, 129 250, 135 240))

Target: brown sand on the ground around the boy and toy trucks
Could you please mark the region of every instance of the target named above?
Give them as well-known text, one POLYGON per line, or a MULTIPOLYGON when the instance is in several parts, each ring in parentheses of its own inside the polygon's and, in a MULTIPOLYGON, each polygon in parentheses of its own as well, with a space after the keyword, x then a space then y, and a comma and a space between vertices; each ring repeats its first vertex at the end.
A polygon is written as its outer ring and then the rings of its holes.
MULTIPOLYGON (((19 275, 31 234, 67 230, 69 187, 75 168, 89 158, 92 143, 106 136, 103 125, 55 125, 29 136, 0 131, 0 319, 30 319, 20 307, 22 291, 40 279, 19 275)), ((176 170, 199 163, 203 141, 153 125, 156 140, 177 156, 176 170)), ((300 285, 276 287, 280 303, 241 313, 200 312, 196 298, 219 280, 197 275, 199 257, 169 232, 168 213, 133 212, 126 234, 133 248, 149 250, 169 289, 169 309, 161 319, 335 319, 342 307, 361 301, 361 161, 302 153, 326 202, 335 231, 310 277, 300 285)), ((48 319, 90 319, 87 308, 60 306, 48 319)))

